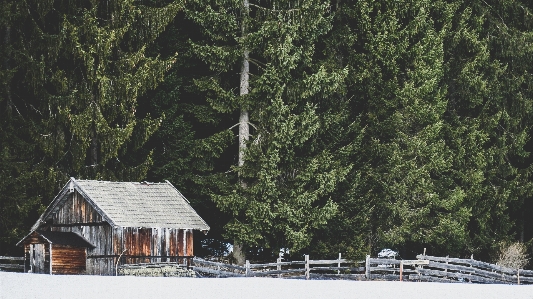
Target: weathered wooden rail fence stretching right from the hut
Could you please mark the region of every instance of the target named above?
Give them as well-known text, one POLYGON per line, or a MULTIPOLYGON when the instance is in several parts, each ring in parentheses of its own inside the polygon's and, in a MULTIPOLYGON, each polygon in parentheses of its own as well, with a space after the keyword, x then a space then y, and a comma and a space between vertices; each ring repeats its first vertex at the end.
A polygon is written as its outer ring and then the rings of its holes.
POLYGON ((533 271, 510 269, 474 259, 419 255, 416 260, 371 258, 365 261, 310 260, 230 265, 193 259, 193 270, 207 277, 279 277, 300 279, 405 280, 473 283, 533 283, 533 271))

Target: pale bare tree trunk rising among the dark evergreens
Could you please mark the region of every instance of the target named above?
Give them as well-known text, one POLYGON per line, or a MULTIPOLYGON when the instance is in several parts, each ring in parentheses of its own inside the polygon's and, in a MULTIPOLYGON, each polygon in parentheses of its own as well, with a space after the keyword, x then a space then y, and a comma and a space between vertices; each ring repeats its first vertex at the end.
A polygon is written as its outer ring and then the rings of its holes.
MULTIPOLYGON (((249 9, 249 2, 248 0, 244 0, 243 2, 244 11, 247 14, 249 9)), ((242 35, 244 36, 246 34, 246 28, 244 25, 242 26, 242 35)), ((240 96, 245 96, 248 94, 248 90, 250 87, 250 64, 248 62, 249 58, 249 51, 244 50, 243 52, 243 59, 242 59, 242 67, 241 67, 241 82, 240 82, 240 96)), ((239 117, 239 162, 238 166, 244 165, 244 151, 246 150, 246 142, 248 142, 248 139, 250 138, 250 128, 248 125, 249 121, 249 112, 246 107, 241 107, 241 115, 239 117)), ((241 181, 241 185, 243 188, 246 188, 246 182, 241 181)), ((246 255, 244 252, 243 244, 241 244, 238 240, 234 241, 233 244, 233 257, 235 258, 235 262, 238 265, 244 265, 246 260, 246 255)))

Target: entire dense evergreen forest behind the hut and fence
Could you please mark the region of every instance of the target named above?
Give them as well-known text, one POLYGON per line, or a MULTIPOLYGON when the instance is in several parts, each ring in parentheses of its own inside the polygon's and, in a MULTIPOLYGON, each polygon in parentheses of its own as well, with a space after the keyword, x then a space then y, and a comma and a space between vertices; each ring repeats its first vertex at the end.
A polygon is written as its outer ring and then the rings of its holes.
POLYGON ((238 263, 533 253, 532 1, 1 7, 0 255, 70 177, 169 180, 238 263))

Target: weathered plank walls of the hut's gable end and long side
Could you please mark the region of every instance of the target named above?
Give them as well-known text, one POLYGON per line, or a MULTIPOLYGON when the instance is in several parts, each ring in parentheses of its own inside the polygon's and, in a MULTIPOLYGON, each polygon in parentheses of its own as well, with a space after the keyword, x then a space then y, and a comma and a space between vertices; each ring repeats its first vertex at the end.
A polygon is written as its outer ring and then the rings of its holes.
MULTIPOLYGON (((192 230, 111 227, 102 215, 76 191, 68 195, 63 206, 52 215, 52 220, 50 224, 52 231, 78 233, 95 246, 94 249, 89 248, 86 251, 86 264, 83 272, 86 274, 114 275, 115 264, 121 254, 123 256, 119 264, 183 263, 183 259, 176 257, 193 255, 192 230)), ((53 252, 53 257, 55 256, 53 252)))

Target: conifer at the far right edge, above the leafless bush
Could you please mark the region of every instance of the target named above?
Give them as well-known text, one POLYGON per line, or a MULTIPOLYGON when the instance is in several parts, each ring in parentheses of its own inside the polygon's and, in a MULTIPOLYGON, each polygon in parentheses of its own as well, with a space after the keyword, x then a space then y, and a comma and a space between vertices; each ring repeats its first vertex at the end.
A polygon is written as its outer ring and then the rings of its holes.
MULTIPOLYGON (((472 210, 469 250, 487 256, 517 227, 512 212, 531 196, 531 4, 454 3, 447 39, 448 144, 453 174, 472 210), (497 242, 496 242, 497 243, 497 242)), ((519 236, 516 236, 519 238, 519 236)))

